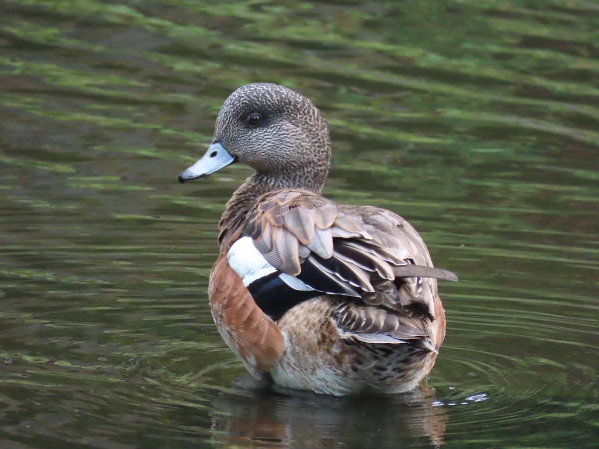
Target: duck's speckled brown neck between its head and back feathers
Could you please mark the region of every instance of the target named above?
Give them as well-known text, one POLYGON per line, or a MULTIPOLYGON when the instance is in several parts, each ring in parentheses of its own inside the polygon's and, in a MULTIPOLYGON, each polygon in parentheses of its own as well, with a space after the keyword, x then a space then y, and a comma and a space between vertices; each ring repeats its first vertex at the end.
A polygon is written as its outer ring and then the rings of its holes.
POLYGON ((231 237, 243 225, 247 213, 260 196, 281 189, 301 189, 320 193, 325 183, 326 174, 328 174, 328 166, 323 169, 323 174, 317 176, 314 176, 314 171, 311 171, 310 175, 298 171, 294 174, 293 178, 295 179, 293 180, 289 177, 273 177, 258 172, 247 178, 246 182, 235 190, 220 217, 219 244, 221 250, 232 244, 231 237))

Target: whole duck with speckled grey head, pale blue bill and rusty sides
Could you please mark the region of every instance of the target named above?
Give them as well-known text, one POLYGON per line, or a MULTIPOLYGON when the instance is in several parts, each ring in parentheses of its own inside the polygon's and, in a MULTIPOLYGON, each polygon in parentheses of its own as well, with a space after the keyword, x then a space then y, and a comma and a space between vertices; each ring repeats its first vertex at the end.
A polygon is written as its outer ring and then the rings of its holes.
POLYGON ((323 395, 401 393, 432 369, 446 332, 434 268, 416 229, 383 208, 321 195, 329 127, 288 87, 239 87, 204 156, 180 183, 233 163, 255 172, 226 203, 208 299, 253 378, 323 395))

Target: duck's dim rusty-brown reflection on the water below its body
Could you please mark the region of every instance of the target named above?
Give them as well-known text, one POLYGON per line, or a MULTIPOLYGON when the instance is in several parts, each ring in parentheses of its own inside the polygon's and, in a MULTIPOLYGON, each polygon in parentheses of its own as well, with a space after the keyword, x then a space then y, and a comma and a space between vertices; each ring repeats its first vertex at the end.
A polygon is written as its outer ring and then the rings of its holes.
POLYGON ((244 390, 214 399, 215 444, 238 447, 413 447, 443 444, 447 414, 426 385, 403 395, 334 398, 244 390))

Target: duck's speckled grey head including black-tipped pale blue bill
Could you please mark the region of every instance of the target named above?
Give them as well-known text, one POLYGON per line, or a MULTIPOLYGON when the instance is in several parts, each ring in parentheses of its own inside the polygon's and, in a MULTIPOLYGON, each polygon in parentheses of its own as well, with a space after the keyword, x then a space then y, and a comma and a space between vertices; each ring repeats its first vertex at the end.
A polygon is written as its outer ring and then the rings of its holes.
POLYGON ((208 151, 179 181, 243 162, 256 170, 256 182, 273 189, 320 193, 330 161, 329 129, 316 105, 287 87, 254 83, 226 99, 208 151))

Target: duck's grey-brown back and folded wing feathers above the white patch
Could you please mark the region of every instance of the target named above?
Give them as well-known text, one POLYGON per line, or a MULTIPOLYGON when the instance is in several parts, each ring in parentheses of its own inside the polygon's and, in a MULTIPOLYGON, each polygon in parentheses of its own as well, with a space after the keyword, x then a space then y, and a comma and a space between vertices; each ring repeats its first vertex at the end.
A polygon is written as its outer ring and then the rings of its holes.
POLYGON ((435 279, 457 280, 433 268, 422 238, 397 214, 341 206, 302 190, 262 196, 245 234, 271 266, 305 286, 392 310, 420 303, 434 316, 435 279), (379 281, 391 281, 396 291, 375 289, 379 281))

